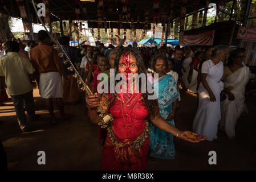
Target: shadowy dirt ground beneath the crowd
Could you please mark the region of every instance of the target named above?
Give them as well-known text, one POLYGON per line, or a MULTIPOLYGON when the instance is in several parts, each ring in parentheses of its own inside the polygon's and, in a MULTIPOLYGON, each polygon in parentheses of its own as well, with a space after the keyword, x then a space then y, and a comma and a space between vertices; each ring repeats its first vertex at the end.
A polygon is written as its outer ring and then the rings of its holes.
MULTIPOLYGON (((103 146, 97 138, 97 127, 86 112, 83 93, 77 105, 65 105, 72 119, 52 125, 44 100, 34 89, 38 121, 29 121, 32 132, 21 133, 11 100, 0 107, 0 136, 5 147, 9 170, 97 170, 100 166, 103 146), (38 165, 38 151, 46 154, 46 164, 38 165)), ((181 105, 174 119, 176 127, 192 130, 196 114, 196 96, 181 93, 181 105)), ((203 141, 193 144, 175 139, 174 160, 148 158, 148 170, 255 170, 256 159, 256 97, 247 97, 249 115, 239 118, 236 137, 227 138, 223 131, 218 133, 219 142, 203 141), (210 165, 209 151, 216 151, 217 164, 210 165)), ((56 106, 55 106, 55 109, 56 106)), ((55 110, 59 115, 58 110, 55 110)))

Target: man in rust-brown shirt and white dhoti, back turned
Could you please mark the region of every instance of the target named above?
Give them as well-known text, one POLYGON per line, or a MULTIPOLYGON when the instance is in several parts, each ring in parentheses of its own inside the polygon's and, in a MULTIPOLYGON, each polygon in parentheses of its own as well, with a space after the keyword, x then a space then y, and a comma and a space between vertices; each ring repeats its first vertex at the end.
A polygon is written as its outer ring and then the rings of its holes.
MULTIPOLYGON (((39 45, 30 51, 30 59, 36 72, 39 74, 39 93, 42 98, 46 98, 46 105, 51 115, 51 122, 56 123, 54 115, 53 99, 56 100, 60 111, 60 119, 70 118, 70 114, 64 113, 62 76, 68 82, 68 77, 64 72, 58 51, 49 46, 51 38, 46 31, 38 32, 39 45)), ((68 83, 67 83, 68 84, 68 83)))

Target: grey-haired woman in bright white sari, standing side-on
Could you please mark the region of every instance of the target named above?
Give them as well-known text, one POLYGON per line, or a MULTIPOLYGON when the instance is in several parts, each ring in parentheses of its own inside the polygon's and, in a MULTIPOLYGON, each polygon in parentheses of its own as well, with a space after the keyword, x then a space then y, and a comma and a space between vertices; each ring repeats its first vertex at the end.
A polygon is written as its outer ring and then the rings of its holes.
POLYGON ((193 131, 205 135, 206 140, 217 139, 218 122, 221 119, 220 94, 224 88, 223 60, 227 59, 229 48, 217 46, 212 59, 202 64, 201 83, 198 89, 198 109, 193 121, 193 131))

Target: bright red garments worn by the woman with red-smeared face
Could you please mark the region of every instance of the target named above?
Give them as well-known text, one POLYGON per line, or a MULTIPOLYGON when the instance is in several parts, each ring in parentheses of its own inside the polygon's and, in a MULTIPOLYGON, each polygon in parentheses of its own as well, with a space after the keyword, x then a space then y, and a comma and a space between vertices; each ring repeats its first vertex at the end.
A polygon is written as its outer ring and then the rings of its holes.
POLYGON ((118 94, 115 104, 109 109, 114 118, 112 130, 115 139, 123 144, 116 147, 107 135, 100 170, 146 169, 150 139, 148 138, 139 150, 129 146, 143 133, 148 116, 145 101, 140 98, 141 93, 118 94), (120 154, 123 158, 120 158, 120 154))

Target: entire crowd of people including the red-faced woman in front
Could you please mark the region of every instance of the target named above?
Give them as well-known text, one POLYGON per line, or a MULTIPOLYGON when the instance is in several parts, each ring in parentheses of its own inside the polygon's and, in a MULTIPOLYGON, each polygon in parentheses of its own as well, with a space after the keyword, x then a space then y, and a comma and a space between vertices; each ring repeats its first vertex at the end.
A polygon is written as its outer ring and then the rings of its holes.
MULTIPOLYGON (((6 84, 22 131, 30 131, 24 107, 31 121, 39 118, 34 109, 32 81, 46 100, 51 123, 71 118, 64 105, 80 101, 75 71, 70 69, 70 63, 65 63, 67 59, 62 50, 52 46, 46 31, 38 32, 38 40, 39 44, 30 41, 26 47, 21 40, 10 40, 0 47, 0 104, 3 106, 8 99, 6 84), (54 100, 60 117, 54 114, 54 100)), ((221 45, 134 48, 130 45, 105 47, 104 44, 96 47, 79 44, 76 48, 70 46, 68 36, 58 41, 94 93, 92 96, 86 94, 91 122, 96 125, 100 122, 96 112, 98 106, 113 116, 107 130, 99 127, 99 138, 104 143, 100 169, 145 170, 148 155, 174 159, 173 136, 188 142, 212 141, 218 139, 220 129, 233 139, 236 122, 247 111, 245 86, 250 71, 243 63, 246 51, 243 48, 231 50, 221 45), (141 83, 137 88, 133 84, 132 93, 126 92, 128 84, 121 85, 121 93, 97 93, 97 86, 102 81, 97 77, 105 73, 110 78, 111 69, 115 70, 115 76, 117 73, 127 76, 127 82, 131 79, 129 74, 157 73, 158 77, 152 74, 145 83, 152 86, 157 99, 149 100, 152 93, 142 93, 141 83), (154 86, 156 83, 158 86, 154 86), (198 96, 193 132, 175 127, 181 92, 198 96)))

